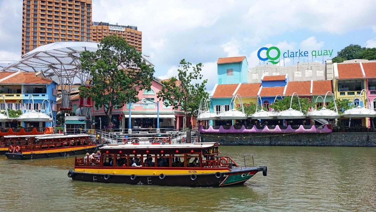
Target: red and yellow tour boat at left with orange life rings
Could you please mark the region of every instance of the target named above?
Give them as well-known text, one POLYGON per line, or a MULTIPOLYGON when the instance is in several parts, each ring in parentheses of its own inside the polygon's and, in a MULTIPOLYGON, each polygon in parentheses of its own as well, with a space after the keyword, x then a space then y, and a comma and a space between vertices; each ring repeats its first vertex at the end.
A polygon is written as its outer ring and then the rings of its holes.
POLYGON ((25 160, 92 153, 97 147, 87 134, 36 136, 8 143, 8 159, 25 160))

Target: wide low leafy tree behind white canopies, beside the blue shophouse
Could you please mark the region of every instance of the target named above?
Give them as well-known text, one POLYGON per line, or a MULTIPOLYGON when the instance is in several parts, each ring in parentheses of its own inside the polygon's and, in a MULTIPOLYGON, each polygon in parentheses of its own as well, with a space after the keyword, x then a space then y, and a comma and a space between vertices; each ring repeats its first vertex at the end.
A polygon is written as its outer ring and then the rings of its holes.
MULTIPOLYGON (((291 96, 285 96, 283 99, 280 99, 273 104, 270 105, 271 108, 274 110, 288 110, 290 108, 290 101, 291 101, 291 96)), ((307 114, 309 111, 309 107, 314 107, 314 103, 308 99, 308 98, 299 98, 300 105, 302 106, 302 112, 304 114, 307 114)), ((300 110, 299 109, 299 102, 298 98, 294 97, 293 98, 293 104, 291 106, 294 110, 300 110)))

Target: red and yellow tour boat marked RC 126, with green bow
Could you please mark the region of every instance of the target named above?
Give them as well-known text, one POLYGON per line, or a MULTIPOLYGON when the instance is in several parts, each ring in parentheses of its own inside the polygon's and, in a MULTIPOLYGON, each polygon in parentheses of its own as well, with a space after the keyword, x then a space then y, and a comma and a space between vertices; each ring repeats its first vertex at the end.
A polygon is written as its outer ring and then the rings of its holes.
POLYGON ((266 166, 241 167, 230 157, 220 156, 217 142, 136 144, 103 146, 99 159, 76 157, 68 177, 104 183, 214 187, 242 185, 259 171, 267 175, 266 166))

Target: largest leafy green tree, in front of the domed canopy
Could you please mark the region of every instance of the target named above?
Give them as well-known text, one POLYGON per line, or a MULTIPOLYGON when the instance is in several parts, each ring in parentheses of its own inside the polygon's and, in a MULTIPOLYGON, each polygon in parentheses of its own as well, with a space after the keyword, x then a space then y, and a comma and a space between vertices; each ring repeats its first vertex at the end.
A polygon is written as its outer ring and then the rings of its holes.
POLYGON ((91 97, 96 106, 103 106, 108 124, 115 106, 137 101, 138 92, 151 86, 154 68, 120 36, 103 38, 98 50, 82 52, 80 61, 82 71, 91 73, 90 86, 79 88, 80 97, 91 97))

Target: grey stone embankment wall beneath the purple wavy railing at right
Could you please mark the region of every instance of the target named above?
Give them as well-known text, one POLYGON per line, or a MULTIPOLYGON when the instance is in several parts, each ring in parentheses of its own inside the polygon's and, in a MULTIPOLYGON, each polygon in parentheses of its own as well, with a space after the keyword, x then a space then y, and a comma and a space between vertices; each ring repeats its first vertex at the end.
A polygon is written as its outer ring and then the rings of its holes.
POLYGON ((202 133, 200 137, 202 142, 221 145, 376 146, 376 133, 202 133))

